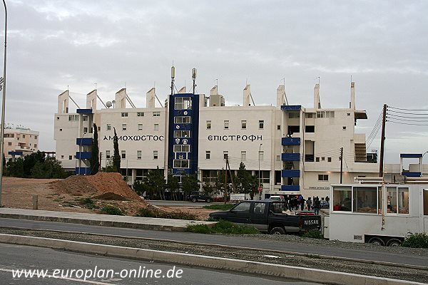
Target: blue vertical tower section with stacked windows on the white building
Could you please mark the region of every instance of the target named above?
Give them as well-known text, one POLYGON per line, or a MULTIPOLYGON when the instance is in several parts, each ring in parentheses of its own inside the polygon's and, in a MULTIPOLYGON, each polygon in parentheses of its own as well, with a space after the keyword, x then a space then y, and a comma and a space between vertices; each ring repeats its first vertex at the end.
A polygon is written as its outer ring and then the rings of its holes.
POLYGON ((173 175, 198 172, 199 95, 178 93, 168 102, 168 168, 173 175))

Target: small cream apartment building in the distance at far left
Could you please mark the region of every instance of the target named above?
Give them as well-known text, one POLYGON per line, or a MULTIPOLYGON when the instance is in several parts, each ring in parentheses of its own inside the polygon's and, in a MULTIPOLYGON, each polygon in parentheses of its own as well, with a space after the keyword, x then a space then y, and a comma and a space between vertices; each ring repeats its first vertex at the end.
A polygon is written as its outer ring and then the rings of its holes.
POLYGON ((29 128, 10 127, 4 128, 4 157, 24 157, 39 150, 39 132, 29 128))

